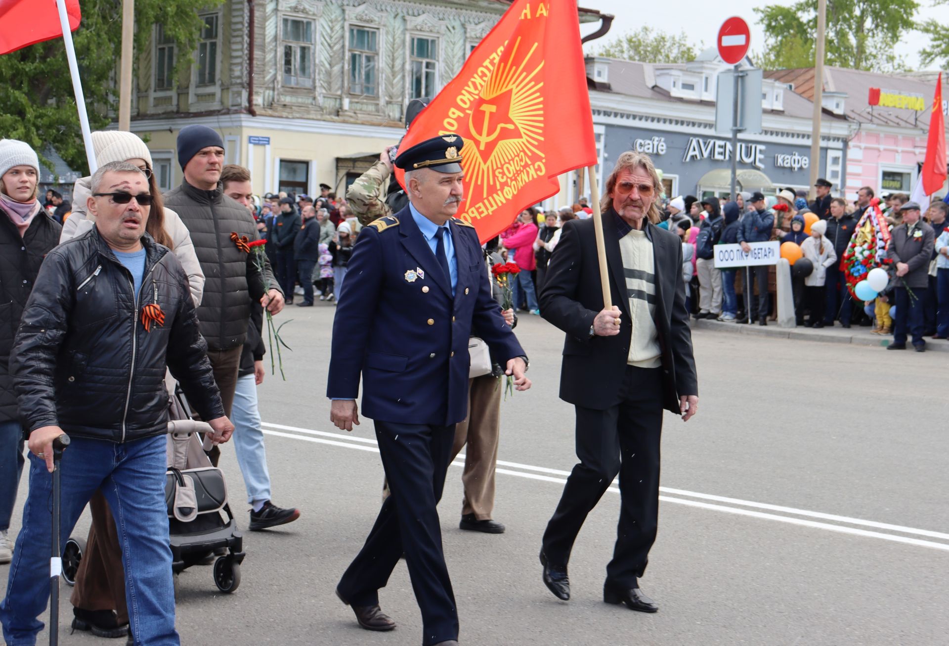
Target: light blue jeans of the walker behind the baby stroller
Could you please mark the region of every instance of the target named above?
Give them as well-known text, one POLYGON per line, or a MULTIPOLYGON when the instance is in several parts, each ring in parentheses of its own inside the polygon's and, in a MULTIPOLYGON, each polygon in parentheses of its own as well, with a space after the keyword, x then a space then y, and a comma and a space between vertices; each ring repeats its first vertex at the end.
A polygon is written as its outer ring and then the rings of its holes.
POLYGON ((247 502, 253 504, 257 501, 269 501, 270 473, 267 470, 267 450, 264 448, 264 432, 260 429, 257 385, 252 374, 237 378, 231 421, 234 425, 234 452, 237 454, 241 475, 244 476, 247 502))

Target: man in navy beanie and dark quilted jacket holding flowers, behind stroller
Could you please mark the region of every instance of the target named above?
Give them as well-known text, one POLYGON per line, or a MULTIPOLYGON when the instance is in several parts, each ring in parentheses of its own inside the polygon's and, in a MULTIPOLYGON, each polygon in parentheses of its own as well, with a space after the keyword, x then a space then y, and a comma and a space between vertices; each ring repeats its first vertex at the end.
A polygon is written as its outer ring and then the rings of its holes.
MULTIPOLYGON (((177 138, 181 185, 165 194, 165 206, 175 209, 188 227, 204 272, 204 295, 197 309, 201 334, 208 342, 214 381, 231 414, 241 349, 251 320, 251 298, 270 314, 284 307, 284 295, 265 258, 263 266, 232 239, 257 239, 257 227, 242 204, 224 195, 220 186, 224 142, 206 125, 186 125, 177 138)), ((215 447, 216 448, 216 447, 215 447)), ((217 464, 218 452, 212 451, 217 464)))

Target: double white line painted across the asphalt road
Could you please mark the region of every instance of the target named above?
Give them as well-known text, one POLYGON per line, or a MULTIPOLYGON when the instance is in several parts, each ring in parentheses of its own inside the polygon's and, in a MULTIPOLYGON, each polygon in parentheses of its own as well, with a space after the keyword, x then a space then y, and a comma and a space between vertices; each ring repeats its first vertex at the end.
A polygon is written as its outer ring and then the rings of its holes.
MULTIPOLYGON (((323 437, 308 437, 308 436, 303 436, 303 435, 297 435, 294 433, 284 433, 284 432, 279 432, 275 430, 263 429, 263 432, 267 433, 268 435, 276 435, 278 437, 286 437, 286 438, 291 438, 291 439, 304 440, 307 442, 326 444, 333 447, 357 448, 360 450, 371 451, 374 453, 379 452, 379 448, 375 440, 369 440, 369 439, 358 437, 358 436, 342 435, 341 433, 329 433, 326 431, 313 430, 311 428, 287 427, 283 425, 270 424, 270 423, 263 423, 262 426, 270 427, 270 428, 284 428, 288 430, 297 430, 297 431, 305 432, 309 435, 320 435, 320 436, 325 436, 325 437, 340 438, 344 440, 344 442, 328 440, 328 439, 324 439, 323 437), (356 442, 359 442, 362 444, 355 444, 356 442)), ((458 458, 464 459, 464 456, 459 455, 458 458)), ((527 478, 530 480, 540 480, 544 482, 558 483, 561 485, 567 482, 566 478, 555 478, 552 476, 553 475, 562 475, 562 476, 569 475, 569 471, 563 471, 560 469, 551 469, 551 468, 547 468, 543 466, 521 465, 519 463, 504 462, 501 460, 498 460, 497 464, 499 466, 514 466, 514 467, 518 467, 522 469, 530 469, 530 470, 539 472, 539 473, 529 473, 525 471, 512 470, 508 468, 498 468, 497 469, 498 473, 517 476, 520 478, 527 478), (542 475, 542 473, 549 473, 552 475, 542 475)), ((464 463, 456 461, 452 463, 452 466, 458 466, 458 467, 463 468, 464 463)), ((620 493, 620 489, 615 485, 609 486, 607 488, 607 491, 611 491, 613 493, 620 493)), ((919 536, 927 536, 931 538, 949 540, 949 534, 943 534, 940 532, 935 532, 935 531, 926 530, 926 529, 917 529, 915 527, 904 527, 902 525, 896 525, 896 524, 890 524, 890 523, 877 523, 875 521, 865 521, 862 519, 850 518, 847 516, 825 514, 822 512, 808 511, 806 509, 797 509, 795 507, 785 507, 785 506, 781 506, 777 504, 754 503, 751 501, 743 501, 737 498, 715 496, 712 494, 698 493, 695 491, 687 491, 685 489, 676 489, 672 487, 661 486, 660 491, 663 493, 674 493, 679 496, 687 496, 691 498, 711 500, 711 501, 716 501, 719 503, 730 503, 730 504, 739 504, 743 506, 752 506, 752 507, 757 507, 760 509, 768 509, 771 511, 781 511, 784 513, 795 514, 798 516, 809 516, 811 518, 820 518, 823 520, 836 521, 839 523, 860 524, 860 525, 864 525, 868 527, 875 527, 877 529, 889 529, 891 531, 898 531, 898 532, 902 532, 903 534, 916 534, 919 536)), ((884 541, 903 542, 903 543, 907 543, 911 545, 918 545, 921 547, 930 547, 934 549, 949 551, 949 544, 941 543, 941 542, 922 541, 920 539, 912 539, 912 538, 904 537, 904 536, 894 536, 891 534, 884 534, 881 532, 858 529, 856 527, 843 527, 840 525, 835 525, 835 524, 830 524, 830 523, 817 523, 815 521, 789 518, 786 516, 778 516, 776 514, 768 514, 768 513, 763 513, 759 511, 753 511, 751 509, 740 509, 736 507, 726 506, 723 504, 701 503, 698 501, 685 500, 682 498, 676 498, 672 496, 661 495, 660 500, 665 503, 685 504, 687 506, 694 506, 694 507, 699 507, 702 509, 710 509, 714 511, 722 511, 725 513, 736 514, 739 516, 749 516, 749 517, 759 518, 759 519, 764 519, 764 520, 777 521, 779 523, 791 523, 791 524, 797 524, 797 525, 806 526, 806 527, 813 527, 817 529, 827 529, 828 531, 835 531, 835 532, 840 532, 844 534, 852 534, 855 536, 882 539, 884 541)))

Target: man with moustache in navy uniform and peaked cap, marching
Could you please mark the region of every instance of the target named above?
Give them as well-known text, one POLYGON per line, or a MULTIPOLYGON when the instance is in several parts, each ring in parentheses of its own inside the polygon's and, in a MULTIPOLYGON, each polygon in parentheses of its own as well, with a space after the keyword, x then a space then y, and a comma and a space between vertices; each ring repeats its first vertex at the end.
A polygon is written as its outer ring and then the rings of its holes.
POLYGON ((330 419, 375 421, 392 495, 336 594, 367 630, 392 630, 384 587, 402 553, 423 622, 423 646, 456 644, 458 615, 441 548, 436 505, 451 459, 455 425, 468 402, 468 339, 483 338, 528 390, 527 356, 491 294, 471 224, 454 218, 463 199, 464 141, 442 135, 403 151, 410 203, 363 229, 349 260, 333 321, 327 396, 330 419))

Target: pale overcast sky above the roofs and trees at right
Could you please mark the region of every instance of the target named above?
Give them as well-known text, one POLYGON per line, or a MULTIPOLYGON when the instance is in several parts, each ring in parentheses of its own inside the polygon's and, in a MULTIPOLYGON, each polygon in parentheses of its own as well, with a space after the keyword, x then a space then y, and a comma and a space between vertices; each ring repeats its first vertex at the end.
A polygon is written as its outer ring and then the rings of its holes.
MULTIPOLYGON (((949 7, 929 7, 932 2, 933 0, 921 0, 922 8, 918 12, 919 18, 921 20, 936 18, 943 25, 949 25, 949 7)), ((764 31, 754 23, 756 16, 753 9, 767 4, 792 5, 794 3, 792 0, 730 0, 727 3, 710 0, 663 0, 642 4, 633 3, 630 0, 581 0, 580 2, 582 7, 612 13, 616 16, 609 33, 603 39, 594 41, 595 44, 605 43, 617 35, 646 25, 673 33, 684 30, 696 45, 704 42, 705 47, 712 47, 715 45, 716 33, 722 22, 736 15, 744 18, 751 26, 752 50, 758 51, 764 48, 764 31)), ((595 26, 590 25, 582 28, 585 35, 595 29, 595 26)), ((905 58, 908 66, 918 68, 920 65, 918 52, 921 47, 928 44, 928 41, 929 39, 918 31, 907 32, 897 47, 897 53, 905 58)), ((938 66, 933 64, 929 68, 938 69, 938 66)))

